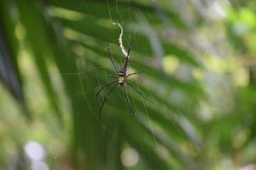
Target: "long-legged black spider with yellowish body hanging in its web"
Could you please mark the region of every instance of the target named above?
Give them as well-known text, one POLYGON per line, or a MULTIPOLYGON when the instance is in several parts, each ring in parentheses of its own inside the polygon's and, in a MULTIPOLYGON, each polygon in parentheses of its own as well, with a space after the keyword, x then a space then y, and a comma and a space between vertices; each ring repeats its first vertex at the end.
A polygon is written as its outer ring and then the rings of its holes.
MULTIPOLYGON (((105 105, 109 95, 113 92, 113 89, 117 88, 118 86, 121 87, 121 88, 125 88, 125 100, 126 102, 128 103, 130 109, 131 109, 131 112, 132 114, 135 116, 136 115, 136 112, 132 109, 131 107, 131 102, 130 102, 130 99, 129 99, 129 95, 128 95, 128 91, 127 91, 127 87, 126 87, 126 83, 132 88, 134 89, 137 94, 140 94, 141 96, 143 96, 143 98, 147 99, 137 88, 135 88, 131 82, 128 82, 128 77, 131 77, 132 75, 136 75, 137 72, 134 72, 134 73, 131 73, 131 74, 128 74, 126 75, 126 72, 127 72, 127 68, 129 67, 129 64, 130 64, 130 51, 131 51, 131 48, 128 49, 128 52, 127 52, 127 55, 125 56, 125 61, 124 61, 124 64, 123 66, 121 67, 121 69, 118 71, 116 65, 114 64, 114 61, 113 61, 113 56, 112 54, 110 53, 110 48, 109 48, 109 42, 108 42, 108 56, 113 64, 113 67, 114 67, 114 70, 116 71, 117 73, 117 76, 116 77, 113 77, 113 78, 117 78, 117 80, 113 81, 113 82, 109 82, 108 84, 105 84, 104 86, 102 86, 102 88, 97 92, 96 94, 96 98, 98 99, 98 95, 102 92, 102 90, 104 88, 107 88, 108 86, 114 84, 114 86, 112 88, 110 88, 110 90, 108 91, 108 94, 106 94, 106 96, 104 97, 103 99, 103 102, 101 104, 101 107, 100 107, 100 111, 99 111, 99 119, 100 119, 100 122, 102 124, 102 108, 103 106, 105 105)), ((149 99, 147 99, 149 100, 149 99)), ((150 101, 150 100, 149 100, 150 101)), ((102 126, 103 127, 103 126, 102 126)))

